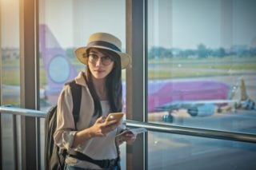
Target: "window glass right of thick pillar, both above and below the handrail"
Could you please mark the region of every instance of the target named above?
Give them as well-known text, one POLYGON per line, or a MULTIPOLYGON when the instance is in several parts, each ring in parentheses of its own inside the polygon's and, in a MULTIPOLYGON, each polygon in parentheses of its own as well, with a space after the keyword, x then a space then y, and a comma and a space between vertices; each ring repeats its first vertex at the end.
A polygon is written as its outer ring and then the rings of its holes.
MULTIPOLYGON (((256 133, 255 6, 253 0, 148 1, 150 122, 256 133)), ((148 132, 147 162, 149 169, 251 169, 255 149, 148 132)))

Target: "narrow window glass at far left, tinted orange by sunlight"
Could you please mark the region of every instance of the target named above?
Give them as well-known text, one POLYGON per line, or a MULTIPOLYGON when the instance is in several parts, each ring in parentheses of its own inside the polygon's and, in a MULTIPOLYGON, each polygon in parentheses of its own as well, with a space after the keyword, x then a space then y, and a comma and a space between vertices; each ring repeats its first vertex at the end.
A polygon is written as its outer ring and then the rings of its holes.
MULTIPOLYGON (((0 1, 0 105, 20 105, 18 4, 18 0, 0 1)), ((13 117, 1 114, 3 169, 15 168, 13 117)))

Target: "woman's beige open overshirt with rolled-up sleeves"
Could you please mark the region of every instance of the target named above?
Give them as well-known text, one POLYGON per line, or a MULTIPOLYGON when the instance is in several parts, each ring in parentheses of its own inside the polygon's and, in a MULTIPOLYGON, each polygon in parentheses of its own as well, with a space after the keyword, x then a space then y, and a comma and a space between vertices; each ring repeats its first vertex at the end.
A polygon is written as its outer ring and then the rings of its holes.
MULTIPOLYGON (((93 117, 93 114, 94 114, 94 101, 90 95, 90 90, 86 85, 86 81, 82 76, 82 72, 79 73, 78 77, 75 77, 74 80, 78 85, 82 85, 81 106, 80 106, 80 113, 79 113, 79 121, 77 123, 78 130, 82 130, 85 128, 89 128, 91 118, 93 117)), ((77 132, 73 130, 75 126, 74 126, 74 118, 72 115, 72 109, 73 109, 73 101, 72 101, 70 86, 65 85, 64 88, 62 89, 62 93, 58 98, 57 127, 56 127, 56 131, 54 132, 54 142, 58 144, 60 148, 66 148, 68 151, 72 149, 72 150, 87 154, 86 149, 88 150, 87 148, 88 144, 89 145, 91 144, 90 140, 86 140, 85 142, 83 142, 82 144, 79 144, 75 148, 73 147, 71 148, 74 141, 74 135, 77 132)), ((112 136, 113 135, 115 136, 118 133, 120 133, 123 128, 126 128, 126 126, 124 124, 120 125, 118 129, 114 131, 114 134, 112 134, 112 136)), ((110 141, 114 143, 114 140, 110 140, 110 141)), ((99 146, 99 148, 100 147, 104 148, 104 146, 99 146)), ((112 155, 112 157, 115 158, 118 156, 116 147, 114 147, 114 152, 115 152, 114 154, 115 156, 112 155)), ((79 167, 95 168, 94 164, 79 161, 69 156, 66 159, 66 163, 72 164, 72 165, 76 164, 79 167)))

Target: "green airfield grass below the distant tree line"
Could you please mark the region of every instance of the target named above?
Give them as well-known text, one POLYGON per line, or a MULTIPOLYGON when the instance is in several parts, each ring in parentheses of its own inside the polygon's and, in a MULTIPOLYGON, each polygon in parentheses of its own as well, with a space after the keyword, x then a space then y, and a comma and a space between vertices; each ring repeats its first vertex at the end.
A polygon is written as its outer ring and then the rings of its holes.
MULTIPOLYGON (((78 67, 81 63, 73 58, 71 63, 78 67)), ((214 58, 208 57, 204 59, 190 58, 190 59, 161 59, 150 60, 150 64, 158 64, 154 69, 148 68, 149 79, 165 79, 165 78, 182 78, 182 77, 211 77, 216 75, 229 75, 229 71, 252 71, 256 72, 256 57, 224 57, 214 58), (214 64, 218 62, 218 64, 214 64), (223 62, 223 64, 222 64, 223 62), (246 63, 244 63, 246 62, 246 63), (210 64, 209 64, 210 63, 210 64), (165 65, 161 65, 165 64, 165 65), (186 71, 186 69, 195 69, 195 71, 186 71), (196 71, 196 69, 206 69, 206 71, 196 71), (214 72, 214 70, 221 69, 222 72, 214 72), (185 70, 185 71, 179 71, 185 70)), ((6 85, 20 85, 19 69, 4 69, 4 67, 19 67, 19 60, 13 59, 2 61, 2 84, 6 85)), ((42 68, 42 60, 40 60, 40 67, 42 68)), ((125 78, 125 71, 122 71, 122 78, 125 78)), ((44 69, 40 69, 40 86, 46 85, 46 73, 44 69)))

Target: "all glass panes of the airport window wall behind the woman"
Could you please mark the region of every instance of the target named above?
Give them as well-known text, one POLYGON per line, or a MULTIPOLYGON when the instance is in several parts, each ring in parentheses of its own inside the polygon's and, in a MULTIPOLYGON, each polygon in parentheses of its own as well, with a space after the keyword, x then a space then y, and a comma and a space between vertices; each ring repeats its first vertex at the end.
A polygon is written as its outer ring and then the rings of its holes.
MULTIPOLYGON (((255 134, 255 1, 145 2, 149 121, 255 134)), ((19 5, 18 0, 0 1, 1 105, 20 105, 19 5)), ((96 5, 93 0, 39 0, 42 110, 56 103, 74 72, 84 69, 73 51, 86 44, 89 34, 110 32, 126 42, 125 13, 124 0, 96 5)), ((1 125, 2 167, 14 169, 12 117, 2 114, 1 125)), ((148 169, 256 168, 254 144, 150 131, 146 140, 148 169)), ((126 145, 121 150, 126 169, 126 145)))

